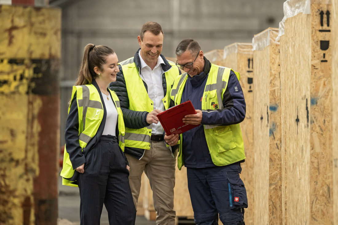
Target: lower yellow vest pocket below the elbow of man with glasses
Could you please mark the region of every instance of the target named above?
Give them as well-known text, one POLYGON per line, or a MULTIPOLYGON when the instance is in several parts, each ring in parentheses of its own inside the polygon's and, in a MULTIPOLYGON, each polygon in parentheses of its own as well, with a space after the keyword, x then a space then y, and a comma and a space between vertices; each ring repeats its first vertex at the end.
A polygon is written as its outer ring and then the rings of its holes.
POLYGON ((217 151, 219 153, 236 148, 234 136, 231 126, 218 126, 212 128, 217 143, 217 151), (221 136, 219 136, 221 135, 221 136))

